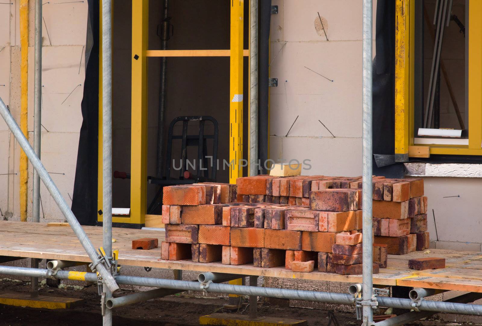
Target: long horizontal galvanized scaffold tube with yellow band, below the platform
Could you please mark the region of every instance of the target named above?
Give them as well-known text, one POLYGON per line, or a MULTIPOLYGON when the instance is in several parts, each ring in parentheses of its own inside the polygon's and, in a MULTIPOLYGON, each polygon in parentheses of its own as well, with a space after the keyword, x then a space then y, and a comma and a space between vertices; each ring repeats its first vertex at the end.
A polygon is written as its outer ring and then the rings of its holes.
MULTIPOLYGON (((0 266, 0 274, 8 275, 24 275, 34 277, 50 277, 58 279, 78 280, 97 282, 96 273, 86 272, 73 272, 73 271, 58 271, 55 275, 51 275, 52 271, 26 268, 26 267, 12 267, 12 266, 0 266)), ((140 276, 128 276, 117 275, 115 278, 118 284, 123 285, 139 285, 150 287, 161 287, 179 290, 201 290, 201 283, 193 281, 178 281, 178 280, 166 280, 152 277, 140 277, 140 276)), ((278 299, 295 299, 295 300, 308 300, 317 302, 331 302, 340 304, 353 304, 353 296, 343 293, 331 293, 331 292, 317 292, 317 291, 305 291, 305 290, 288 290, 278 289, 271 287, 258 287, 258 286, 246 286, 246 285, 230 285, 230 284, 216 284, 212 283, 205 289, 207 292, 214 293, 231 293, 246 296, 258 296, 267 298, 278 299)), ((474 294, 477 295, 477 294, 474 294)), ((388 298, 377 297, 378 305, 381 307, 400 308, 400 309, 413 309, 412 300, 402 298, 388 298)), ((482 305, 457 303, 449 301, 430 301, 422 300, 418 307, 420 311, 431 312, 448 312, 459 313, 469 315, 482 315, 482 305)))

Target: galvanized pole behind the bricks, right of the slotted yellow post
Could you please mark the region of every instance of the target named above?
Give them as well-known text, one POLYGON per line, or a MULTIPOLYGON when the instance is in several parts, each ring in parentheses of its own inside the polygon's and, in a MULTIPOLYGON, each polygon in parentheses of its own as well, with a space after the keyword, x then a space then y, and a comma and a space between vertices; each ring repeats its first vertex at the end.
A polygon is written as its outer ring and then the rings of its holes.
POLYGON ((250 1, 249 175, 258 175, 258 0, 250 1))

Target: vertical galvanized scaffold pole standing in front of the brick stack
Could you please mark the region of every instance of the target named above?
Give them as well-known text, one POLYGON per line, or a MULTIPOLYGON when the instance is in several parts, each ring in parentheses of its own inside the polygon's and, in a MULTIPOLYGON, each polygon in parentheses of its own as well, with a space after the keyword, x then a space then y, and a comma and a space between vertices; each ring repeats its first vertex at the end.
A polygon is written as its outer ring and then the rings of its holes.
POLYGON ((372 10, 372 0, 363 0, 363 326, 373 323, 372 10))

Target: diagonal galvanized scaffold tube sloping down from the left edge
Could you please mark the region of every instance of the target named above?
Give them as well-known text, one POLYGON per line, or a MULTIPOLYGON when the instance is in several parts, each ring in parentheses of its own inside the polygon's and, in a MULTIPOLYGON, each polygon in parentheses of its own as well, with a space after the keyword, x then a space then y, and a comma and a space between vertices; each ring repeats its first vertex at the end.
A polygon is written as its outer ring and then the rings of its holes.
MULTIPOLYGON (((64 217, 67 219, 68 224, 70 225, 75 235, 79 239, 79 242, 84 248, 85 252, 93 262, 97 261, 98 254, 95 251, 94 246, 92 245, 92 242, 90 241, 87 234, 85 234, 85 231, 80 226, 79 222, 77 221, 77 218, 74 216, 74 213, 72 213, 72 210, 69 208, 64 197, 62 197, 60 190, 55 185, 54 180, 52 180, 52 178, 49 176, 49 173, 43 166, 38 156, 35 154, 35 151, 33 150, 32 146, 30 146, 30 144, 28 143, 27 138, 20 130, 20 127, 18 126, 17 122, 15 122, 15 120, 13 119, 12 114, 10 113, 10 111, 8 110, 7 106, 5 105, 5 103, 1 98, 0 98, 0 115, 2 116, 3 120, 5 120, 5 122, 7 123, 9 129, 12 131, 12 134, 13 136, 15 136, 15 139, 19 143, 20 147, 22 147, 22 149, 25 151, 25 154, 27 155, 30 163, 32 163, 32 166, 34 167, 34 169, 39 173, 40 179, 44 183, 45 187, 49 190, 50 194, 52 195, 52 198, 54 199, 55 203, 59 207, 64 217)), ((103 263, 97 264, 96 269, 99 272, 99 274, 102 276, 102 279, 104 280, 104 282, 106 282, 108 288, 112 292, 119 290, 119 286, 116 284, 116 281, 114 280, 110 272, 107 271, 107 268, 103 263)))

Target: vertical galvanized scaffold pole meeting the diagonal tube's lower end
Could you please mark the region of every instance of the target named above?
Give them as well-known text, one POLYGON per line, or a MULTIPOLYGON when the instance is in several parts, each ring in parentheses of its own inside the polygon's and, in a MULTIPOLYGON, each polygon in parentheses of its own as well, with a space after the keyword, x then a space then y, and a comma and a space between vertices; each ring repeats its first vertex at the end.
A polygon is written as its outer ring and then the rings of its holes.
MULTIPOLYGON (((107 257, 112 256, 112 34, 111 0, 102 0, 102 158, 103 205, 102 245, 107 257)), ((112 293, 103 286, 104 302, 112 293)), ((102 302, 102 304, 104 304, 102 302)), ((105 308, 103 325, 112 325, 112 310, 105 308)))

